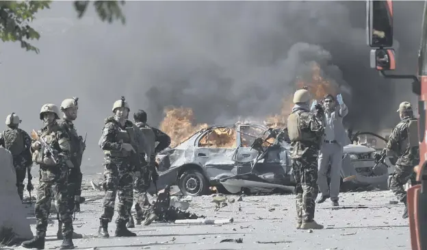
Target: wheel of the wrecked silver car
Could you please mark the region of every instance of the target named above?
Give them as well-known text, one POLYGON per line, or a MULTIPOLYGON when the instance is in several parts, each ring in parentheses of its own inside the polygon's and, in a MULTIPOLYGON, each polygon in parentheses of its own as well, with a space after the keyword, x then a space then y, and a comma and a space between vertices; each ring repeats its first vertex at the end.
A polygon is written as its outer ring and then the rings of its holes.
POLYGON ((209 184, 205 176, 196 169, 185 171, 179 178, 179 189, 183 195, 207 195, 209 184))

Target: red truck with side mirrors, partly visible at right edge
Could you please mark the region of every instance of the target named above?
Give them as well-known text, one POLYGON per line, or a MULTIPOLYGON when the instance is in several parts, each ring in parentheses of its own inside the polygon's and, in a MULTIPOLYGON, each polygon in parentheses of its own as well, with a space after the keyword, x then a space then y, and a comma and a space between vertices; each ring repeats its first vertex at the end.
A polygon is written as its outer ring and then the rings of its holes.
MULTIPOLYGON (((386 77, 412 80, 412 91, 418 96, 419 165, 415 166, 421 184, 408 190, 409 225, 413 250, 427 249, 427 1, 424 3, 422 38, 419 45, 417 75, 393 75, 396 68, 393 47, 393 2, 368 0, 367 42, 371 50, 371 67, 386 77)), ((416 24, 415 24, 416 25, 416 24)), ((404 53, 404 52, 403 52, 404 53)), ((415 60, 415 58, 414 58, 415 60)))

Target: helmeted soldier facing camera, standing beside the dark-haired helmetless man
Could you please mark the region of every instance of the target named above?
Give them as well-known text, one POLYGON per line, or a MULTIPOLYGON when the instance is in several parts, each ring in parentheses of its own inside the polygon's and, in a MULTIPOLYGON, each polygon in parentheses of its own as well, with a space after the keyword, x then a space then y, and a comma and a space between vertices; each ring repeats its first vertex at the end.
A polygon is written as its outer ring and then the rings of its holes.
POLYGON ((99 147, 104 151, 105 198, 103 214, 100 218, 99 237, 108 238, 108 223, 114 215, 114 204, 118 193, 118 218, 116 219, 116 237, 136 236, 130 232, 126 223, 129 221, 129 209, 133 200, 133 179, 135 169, 140 165, 138 138, 133 123, 127 120, 129 105, 125 97, 113 105, 113 116, 105 119, 103 134, 99 147))

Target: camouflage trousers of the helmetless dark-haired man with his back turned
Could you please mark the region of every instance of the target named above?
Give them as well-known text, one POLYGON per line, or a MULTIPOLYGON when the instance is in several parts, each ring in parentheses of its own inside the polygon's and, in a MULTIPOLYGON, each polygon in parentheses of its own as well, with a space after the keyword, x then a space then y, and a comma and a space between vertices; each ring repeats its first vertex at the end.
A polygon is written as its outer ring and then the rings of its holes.
POLYGON ((133 202, 135 203, 136 217, 140 219, 144 217, 142 208, 149 205, 146 190, 150 188, 151 174, 152 172, 148 169, 148 166, 144 166, 140 174, 135 175, 133 178, 133 202))

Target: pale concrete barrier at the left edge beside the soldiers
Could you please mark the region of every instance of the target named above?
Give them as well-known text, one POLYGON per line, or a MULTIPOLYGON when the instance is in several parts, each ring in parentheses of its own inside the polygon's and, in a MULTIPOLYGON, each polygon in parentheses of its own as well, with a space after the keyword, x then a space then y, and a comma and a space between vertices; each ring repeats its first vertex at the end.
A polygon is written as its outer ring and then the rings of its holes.
POLYGON ((16 175, 9 151, 0 147, 0 229, 12 228, 16 238, 32 238, 25 205, 16 190, 16 175))

